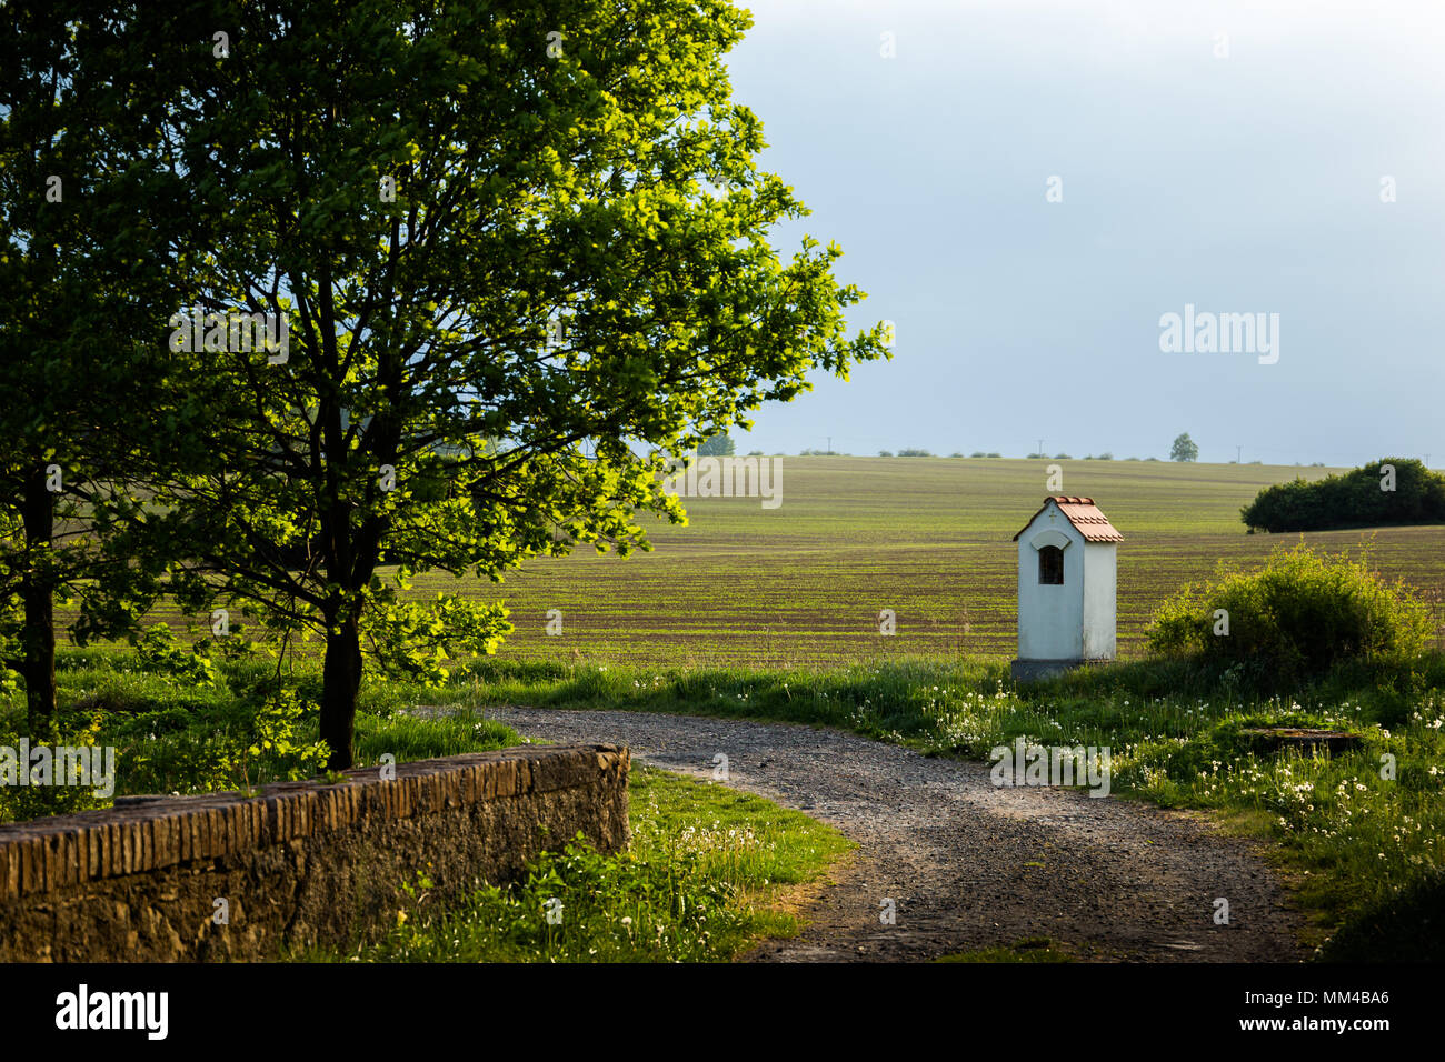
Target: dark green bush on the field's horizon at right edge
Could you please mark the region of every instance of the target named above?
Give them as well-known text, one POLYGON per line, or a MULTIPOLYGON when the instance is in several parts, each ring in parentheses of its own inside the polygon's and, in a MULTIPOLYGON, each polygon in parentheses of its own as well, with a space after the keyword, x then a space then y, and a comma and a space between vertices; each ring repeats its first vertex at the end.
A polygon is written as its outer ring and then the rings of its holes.
POLYGON ((1445 475, 1413 458, 1384 458, 1344 475, 1266 487, 1240 516, 1250 530, 1267 532, 1445 523, 1445 475), (1393 490, 1381 488, 1387 465, 1393 490))

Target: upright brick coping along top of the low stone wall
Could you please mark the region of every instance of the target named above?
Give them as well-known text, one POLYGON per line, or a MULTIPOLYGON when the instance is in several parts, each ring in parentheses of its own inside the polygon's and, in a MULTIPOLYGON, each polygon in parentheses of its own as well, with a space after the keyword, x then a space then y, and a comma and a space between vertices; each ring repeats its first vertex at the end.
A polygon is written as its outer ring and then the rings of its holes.
POLYGON ((114 808, 0 825, 0 902, 85 881, 163 870, 367 818, 403 819, 444 808, 584 785, 626 773, 623 746, 529 746, 377 767, 345 782, 277 782, 257 796, 118 798, 114 808))

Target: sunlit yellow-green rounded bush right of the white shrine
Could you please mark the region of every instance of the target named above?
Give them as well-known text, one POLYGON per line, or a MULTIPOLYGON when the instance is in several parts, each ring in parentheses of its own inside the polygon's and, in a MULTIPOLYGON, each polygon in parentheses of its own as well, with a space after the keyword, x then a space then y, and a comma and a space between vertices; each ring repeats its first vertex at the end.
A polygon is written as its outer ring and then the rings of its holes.
POLYGON ((1285 681, 1340 660, 1415 656, 1429 633, 1426 605, 1371 572, 1368 552, 1351 561, 1300 545, 1276 549, 1256 572, 1221 564, 1212 582, 1185 587, 1155 614, 1149 647, 1285 681))

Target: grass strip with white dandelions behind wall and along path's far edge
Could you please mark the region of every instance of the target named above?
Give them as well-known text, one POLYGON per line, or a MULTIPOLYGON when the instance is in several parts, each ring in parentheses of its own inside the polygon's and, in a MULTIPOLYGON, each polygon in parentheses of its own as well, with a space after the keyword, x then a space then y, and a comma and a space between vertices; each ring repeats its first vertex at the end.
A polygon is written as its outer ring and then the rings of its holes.
MULTIPOLYGON (((225 662, 218 673, 217 686, 208 689, 147 670, 134 655, 65 652, 58 735, 117 746, 117 793, 237 789, 318 773, 319 764, 306 760, 316 724, 314 668, 305 665, 290 676, 298 695, 293 714, 263 715, 263 722, 270 720, 264 727, 254 717, 269 672, 225 662), (260 753, 249 751, 267 741, 260 753)), ((358 761, 374 763, 381 753, 406 760, 516 743, 516 734, 475 712, 509 702, 825 724, 926 754, 970 759, 988 759, 993 747, 1017 737, 1107 746, 1116 795, 1211 809, 1272 841, 1316 916, 1325 957, 1392 958, 1420 948, 1438 955, 1441 948, 1441 933, 1410 931, 1439 925, 1445 896, 1441 653, 1407 665, 1340 668, 1287 696, 1254 692, 1228 672, 1186 660, 1126 662, 1014 688, 1007 668, 990 659, 772 670, 488 659, 458 669, 439 691, 368 682, 358 715, 358 761), (457 711, 420 720, 400 711, 412 704, 457 711), (1272 753, 1244 733, 1261 725, 1347 730, 1360 746, 1332 757, 1272 753), (1387 757, 1393 777, 1383 776, 1387 757)), ((23 698, 0 698, 0 744, 14 744, 23 731, 23 698)), ((87 790, 0 789, 6 819, 105 803, 87 790)), ((665 815, 666 802, 659 808, 665 815)), ((639 828, 639 837, 646 835, 639 828)), ((759 876, 786 881, 777 871, 738 871, 728 880, 759 876)))

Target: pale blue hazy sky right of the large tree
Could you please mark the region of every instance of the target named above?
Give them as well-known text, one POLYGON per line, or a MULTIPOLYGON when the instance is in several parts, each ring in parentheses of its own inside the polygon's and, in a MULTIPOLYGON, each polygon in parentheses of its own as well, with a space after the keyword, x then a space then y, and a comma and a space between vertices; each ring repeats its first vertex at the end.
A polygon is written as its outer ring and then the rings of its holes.
POLYGON ((897 345, 740 449, 1445 467, 1445 3, 744 6, 734 97, 814 211, 775 241, 840 243, 897 345), (1186 303, 1277 314, 1279 360, 1162 353, 1186 303))

